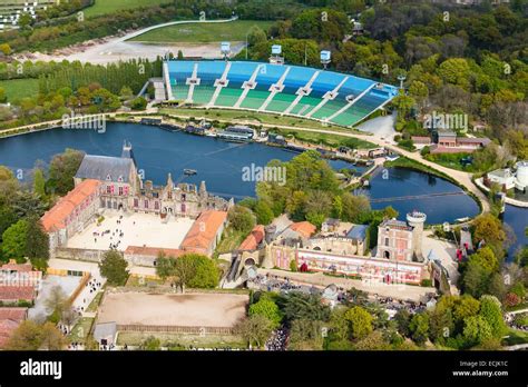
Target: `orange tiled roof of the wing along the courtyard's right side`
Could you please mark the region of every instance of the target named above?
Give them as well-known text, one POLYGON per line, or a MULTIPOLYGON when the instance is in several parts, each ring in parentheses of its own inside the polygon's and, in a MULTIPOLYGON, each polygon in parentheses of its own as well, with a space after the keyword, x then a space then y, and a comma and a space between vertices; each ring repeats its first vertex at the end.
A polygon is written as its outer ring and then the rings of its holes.
POLYGON ((199 215, 179 246, 184 250, 207 250, 227 219, 227 212, 207 210, 199 215))

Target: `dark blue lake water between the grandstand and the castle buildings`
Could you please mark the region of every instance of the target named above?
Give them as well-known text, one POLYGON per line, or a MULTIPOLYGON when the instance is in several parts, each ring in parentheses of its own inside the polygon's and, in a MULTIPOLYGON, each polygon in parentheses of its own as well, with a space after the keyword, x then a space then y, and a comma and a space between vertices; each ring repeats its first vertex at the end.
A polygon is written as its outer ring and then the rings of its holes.
MULTIPOLYGON (((167 173, 172 172, 175 182, 199 183, 205 180, 211 192, 236 199, 254 196, 255 192, 254 182, 242 181, 243 167, 251 163, 265 166, 272 159, 285 161, 296 155, 258 143, 239 145, 141 125, 110 123, 105 133, 53 129, 0 139, 0 165, 28 170, 37 160, 49 162, 53 155, 62 152, 65 148, 80 149, 91 155, 119 156, 125 139, 133 143, 138 168, 145 170, 146 179, 158 185, 165 183, 167 173), (198 175, 185 177, 184 168, 196 169, 198 175)), ((362 169, 344 161, 331 161, 331 165, 335 169, 362 169)), ((452 191, 460 189, 440 178, 405 169, 390 169, 388 179, 383 179, 381 173, 373 178, 369 195, 377 199, 452 191)), ((393 206, 402 216, 412 209, 424 211, 428 222, 432 224, 471 217, 478 212, 477 204, 467 196, 372 204, 373 208, 387 206, 393 206)), ((519 214, 527 212, 520 210, 519 214)), ((521 215, 517 218, 515 221, 522 221, 521 215)))

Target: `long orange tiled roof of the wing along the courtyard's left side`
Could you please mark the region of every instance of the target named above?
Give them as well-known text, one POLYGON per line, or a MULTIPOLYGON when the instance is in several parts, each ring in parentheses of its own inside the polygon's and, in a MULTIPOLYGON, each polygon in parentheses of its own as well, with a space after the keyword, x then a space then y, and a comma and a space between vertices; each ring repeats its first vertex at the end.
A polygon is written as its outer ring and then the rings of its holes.
POLYGON ((87 197, 95 194, 99 188, 100 182, 97 180, 85 180, 76 188, 61 198, 57 205, 53 206, 41 218, 42 226, 47 232, 61 229, 66 227, 65 220, 87 197))

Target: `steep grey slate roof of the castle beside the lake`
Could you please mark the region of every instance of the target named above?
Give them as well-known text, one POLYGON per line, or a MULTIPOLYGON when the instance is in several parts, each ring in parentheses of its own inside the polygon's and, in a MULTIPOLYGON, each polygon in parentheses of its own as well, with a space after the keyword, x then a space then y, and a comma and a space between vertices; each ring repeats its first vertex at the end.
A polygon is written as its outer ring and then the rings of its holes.
POLYGON ((129 176, 133 167, 134 160, 129 158, 86 155, 75 177, 79 179, 130 182, 129 176))

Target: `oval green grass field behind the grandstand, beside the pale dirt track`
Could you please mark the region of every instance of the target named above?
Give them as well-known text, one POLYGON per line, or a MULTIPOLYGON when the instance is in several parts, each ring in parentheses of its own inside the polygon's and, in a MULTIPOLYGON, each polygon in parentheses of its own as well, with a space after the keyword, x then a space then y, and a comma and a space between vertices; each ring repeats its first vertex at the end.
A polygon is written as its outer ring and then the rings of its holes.
POLYGON ((266 30, 273 21, 236 20, 228 23, 186 23, 176 24, 146 32, 130 39, 149 43, 208 43, 217 41, 245 41, 253 26, 266 30))

